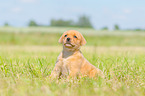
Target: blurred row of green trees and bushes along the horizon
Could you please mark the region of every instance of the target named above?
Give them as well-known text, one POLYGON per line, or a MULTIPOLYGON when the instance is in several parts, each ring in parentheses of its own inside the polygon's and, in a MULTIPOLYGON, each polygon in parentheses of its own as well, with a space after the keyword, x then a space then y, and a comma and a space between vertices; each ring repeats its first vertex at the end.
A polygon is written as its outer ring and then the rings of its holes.
MULTIPOLYGON (((10 26, 8 22, 4 23, 4 26, 10 26)), ((37 27, 37 26, 56 26, 56 27, 80 27, 80 28, 93 28, 93 25, 90 21, 89 16, 82 15, 75 22, 73 20, 63 20, 63 19, 51 19, 50 25, 40 25, 35 20, 30 20, 28 22, 28 27, 37 27)), ((114 25, 114 30, 121 30, 118 24, 114 25)), ((107 26, 102 27, 101 30, 109 30, 107 26)), ((126 29, 126 30, 135 30, 135 31, 144 31, 143 29, 126 29)))

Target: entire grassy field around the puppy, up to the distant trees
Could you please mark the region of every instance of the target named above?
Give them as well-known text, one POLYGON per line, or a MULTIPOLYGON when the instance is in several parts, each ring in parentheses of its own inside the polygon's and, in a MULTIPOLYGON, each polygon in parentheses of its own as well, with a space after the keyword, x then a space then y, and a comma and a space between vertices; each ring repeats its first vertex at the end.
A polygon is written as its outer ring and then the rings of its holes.
POLYGON ((57 41, 68 28, 38 29, 0 28, 1 96, 145 95, 145 32, 78 29, 92 30, 83 33, 87 45, 81 50, 106 78, 68 81, 49 79, 62 50, 57 41))

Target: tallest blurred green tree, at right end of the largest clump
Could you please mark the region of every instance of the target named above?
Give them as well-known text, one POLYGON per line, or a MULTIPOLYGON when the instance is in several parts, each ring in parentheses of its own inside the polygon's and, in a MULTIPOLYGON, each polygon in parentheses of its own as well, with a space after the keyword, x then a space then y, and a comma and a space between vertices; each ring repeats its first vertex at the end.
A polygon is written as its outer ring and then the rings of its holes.
POLYGON ((88 16, 80 16, 76 24, 78 27, 93 28, 90 18, 88 16))

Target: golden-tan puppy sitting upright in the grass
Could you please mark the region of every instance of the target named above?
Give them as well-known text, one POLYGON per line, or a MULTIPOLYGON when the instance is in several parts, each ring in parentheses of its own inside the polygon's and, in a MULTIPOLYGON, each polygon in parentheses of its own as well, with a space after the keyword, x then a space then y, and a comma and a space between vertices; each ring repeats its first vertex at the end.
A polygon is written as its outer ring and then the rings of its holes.
POLYGON ((63 44, 63 51, 57 58, 51 78, 104 77, 103 72, 90 64, 82 55, 80 46, 85 45, 86 40, 81 33, 75 30, 64 32, 59 43, 63 44))

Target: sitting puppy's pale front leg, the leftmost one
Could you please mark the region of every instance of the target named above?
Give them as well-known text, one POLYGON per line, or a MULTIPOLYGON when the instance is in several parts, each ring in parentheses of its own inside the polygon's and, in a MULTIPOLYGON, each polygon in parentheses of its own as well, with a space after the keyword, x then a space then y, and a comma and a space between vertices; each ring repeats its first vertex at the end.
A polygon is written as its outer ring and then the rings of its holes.
POLYGON ((53 69, 53 71, 51 72, 51 75, 49 76, 50 78, 52 79, 59 79, 60 76, 61 76, 61 71, 62 71, 62 62, 61 61, 57 61, 56 64, 55 64, 55 67, 53 69))

